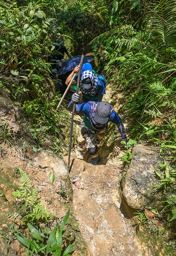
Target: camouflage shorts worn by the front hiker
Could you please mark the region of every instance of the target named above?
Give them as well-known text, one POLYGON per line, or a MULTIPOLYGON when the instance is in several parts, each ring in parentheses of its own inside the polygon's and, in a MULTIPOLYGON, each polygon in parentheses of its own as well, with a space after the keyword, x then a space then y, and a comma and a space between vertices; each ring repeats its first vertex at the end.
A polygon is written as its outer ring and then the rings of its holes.
POLYGON ((98 139, 103 139, 107 133, 107 128, 101 131, 90 130, 84 122, 81 123, 81 134, 86 141, 86 148, 95 148, 98 144, 98 139))

